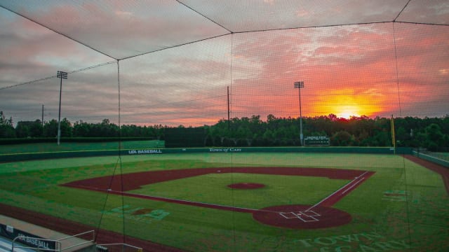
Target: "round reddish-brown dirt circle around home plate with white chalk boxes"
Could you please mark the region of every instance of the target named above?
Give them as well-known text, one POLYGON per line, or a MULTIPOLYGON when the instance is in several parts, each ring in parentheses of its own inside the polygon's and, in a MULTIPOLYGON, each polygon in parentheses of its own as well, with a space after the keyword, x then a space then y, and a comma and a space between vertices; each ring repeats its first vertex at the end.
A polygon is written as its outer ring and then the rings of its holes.
POLYGON ((332 207, 285 205, 266 207, 253 213, 253 218, 265 225, 279 228, 331 228, 351 222, 351 215, 332 207))

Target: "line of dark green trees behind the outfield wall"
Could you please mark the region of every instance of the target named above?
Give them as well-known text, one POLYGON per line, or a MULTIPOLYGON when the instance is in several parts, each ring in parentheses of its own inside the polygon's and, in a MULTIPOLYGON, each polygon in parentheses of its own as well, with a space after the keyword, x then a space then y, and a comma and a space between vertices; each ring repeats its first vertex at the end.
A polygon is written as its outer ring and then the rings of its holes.
MULTIPOLYGON (((138 126, 61 120, 61 137, 142 137, 163 140, 166 125, 138 126)), ((178 127, 184 127, 182 125, 178 127)), ((326 136, 331 146, 392 146, 391 118, 367 116, 338 118, 328 116, 303 117, 304 137, 326 136)), ((300 119, 274 115, 219 120, 204 125, 205 146, 300 146, 300 119)), ((442 118, 394 118, 396 146, 427 148, 429 151, 449 150, 449 116, 442 118)), ((0 111, 0 138, 55 137, 58 121, 19 121, 6 118, 0 111)))

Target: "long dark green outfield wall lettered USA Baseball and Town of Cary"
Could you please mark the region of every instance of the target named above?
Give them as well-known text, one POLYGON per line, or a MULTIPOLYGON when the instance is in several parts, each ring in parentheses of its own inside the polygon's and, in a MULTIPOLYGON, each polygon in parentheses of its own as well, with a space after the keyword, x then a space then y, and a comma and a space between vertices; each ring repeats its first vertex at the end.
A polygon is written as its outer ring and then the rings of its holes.
POLYGON ((412 148, 391 147, 210 147, 210 148, 148 148, 103 151, 62 151, 47 153, 15 153, 0 155, 0 162, 46 160, 53 158, 86 158, 113 155, 161 155, 175 153, 364 153, 364 154, 413 154, 412 148))

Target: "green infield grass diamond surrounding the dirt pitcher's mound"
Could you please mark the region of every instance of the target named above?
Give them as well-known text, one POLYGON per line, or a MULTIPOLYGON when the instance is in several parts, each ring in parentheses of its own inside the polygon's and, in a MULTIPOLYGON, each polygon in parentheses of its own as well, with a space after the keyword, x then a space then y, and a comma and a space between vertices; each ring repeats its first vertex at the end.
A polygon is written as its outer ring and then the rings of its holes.
MULTIPOLYGON (((275 167, 273 169, 276 169, 275 167)), ((206 174, 142 186, 130 193, 218 204, 249 209, 262 209, 284 204, 314 205, 338 190, 347 180, 314 176, 264 174, 206 174), (233 183, 262 183, 264 188, 232 189, 233 183), (173 190, 173 188, 177 188, 173 190)))

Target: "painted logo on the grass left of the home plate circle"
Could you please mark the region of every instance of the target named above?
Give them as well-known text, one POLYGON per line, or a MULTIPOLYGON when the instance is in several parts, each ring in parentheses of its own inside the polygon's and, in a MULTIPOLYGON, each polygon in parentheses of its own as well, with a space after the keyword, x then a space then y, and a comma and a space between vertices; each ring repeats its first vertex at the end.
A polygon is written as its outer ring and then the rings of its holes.
POLYGON ((161 221, 170 213, 163 209, 147 209, 144 207, 131 208, 129 205, 124 205, 123 207, 116 207, 109 211, 103 211, 103 214, 127 218, 142 223, 152 223, 153 221, 161 221))

